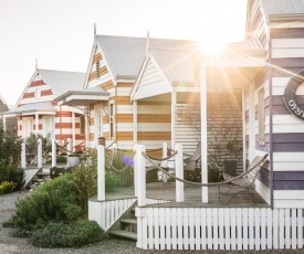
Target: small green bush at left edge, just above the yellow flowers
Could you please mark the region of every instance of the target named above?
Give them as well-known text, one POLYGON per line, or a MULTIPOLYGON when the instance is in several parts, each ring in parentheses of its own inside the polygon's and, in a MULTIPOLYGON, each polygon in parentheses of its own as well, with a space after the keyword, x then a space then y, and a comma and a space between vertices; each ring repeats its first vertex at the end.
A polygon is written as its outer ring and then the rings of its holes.
POLYGON ((24 186, 24 170, 14 165, 0 165, 0 182, 14 182, 14 190, 21 190, 24 186))

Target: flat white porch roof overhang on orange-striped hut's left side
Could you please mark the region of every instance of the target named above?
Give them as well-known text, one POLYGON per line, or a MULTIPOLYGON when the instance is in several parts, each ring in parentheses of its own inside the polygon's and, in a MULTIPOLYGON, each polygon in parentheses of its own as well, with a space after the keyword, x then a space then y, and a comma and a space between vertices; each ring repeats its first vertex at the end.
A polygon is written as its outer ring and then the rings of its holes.
POLYGON ((59 105, 69 106, 88 106, 90 104, 107 102, 108 93, 102 88, 88 88, 83 91, 67 91, 66 93, 54 98, 59 105))

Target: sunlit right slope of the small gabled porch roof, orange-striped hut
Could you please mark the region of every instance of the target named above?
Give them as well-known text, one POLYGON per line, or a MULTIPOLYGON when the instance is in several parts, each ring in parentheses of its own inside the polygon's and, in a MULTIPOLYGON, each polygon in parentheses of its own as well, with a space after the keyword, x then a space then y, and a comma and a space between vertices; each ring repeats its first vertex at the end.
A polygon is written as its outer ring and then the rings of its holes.
POLYGON ((195 83, 193 53, 189 51, 150 50, 170 83, 195 83))

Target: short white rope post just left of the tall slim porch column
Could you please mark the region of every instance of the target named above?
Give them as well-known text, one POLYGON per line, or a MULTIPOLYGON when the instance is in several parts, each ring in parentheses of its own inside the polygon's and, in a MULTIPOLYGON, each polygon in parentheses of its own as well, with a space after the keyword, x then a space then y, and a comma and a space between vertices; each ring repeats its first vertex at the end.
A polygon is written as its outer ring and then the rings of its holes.
MULTIPOLYGON (((184 179, 184 160, 182 160, 182 145, 177 144, 175 146, 177 155, 175 156, 176 177, 184 179)), ((176 202, 184 202, 184 182, 176 180, 176 202)))

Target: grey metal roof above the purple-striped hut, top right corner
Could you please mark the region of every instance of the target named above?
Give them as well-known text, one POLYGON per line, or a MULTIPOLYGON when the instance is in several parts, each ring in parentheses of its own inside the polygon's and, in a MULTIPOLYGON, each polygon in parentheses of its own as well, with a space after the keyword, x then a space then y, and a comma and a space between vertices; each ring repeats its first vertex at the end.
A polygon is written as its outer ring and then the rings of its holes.
POLYGON ((266 17, 272 14, 304 14, 303 0, 262 0, 266 17))

